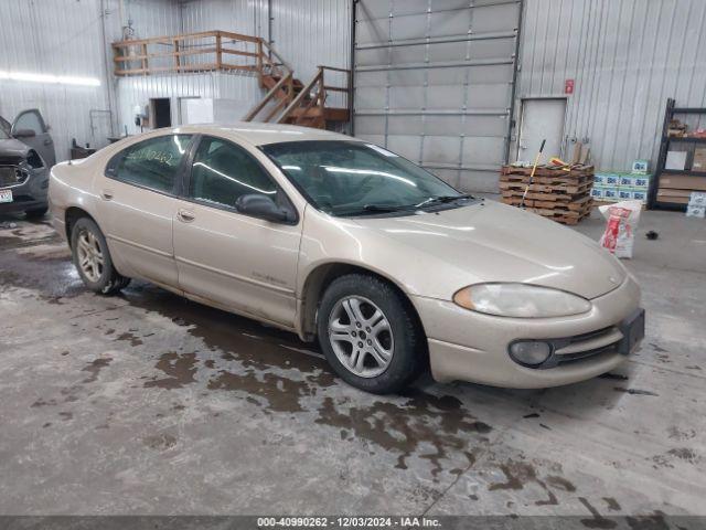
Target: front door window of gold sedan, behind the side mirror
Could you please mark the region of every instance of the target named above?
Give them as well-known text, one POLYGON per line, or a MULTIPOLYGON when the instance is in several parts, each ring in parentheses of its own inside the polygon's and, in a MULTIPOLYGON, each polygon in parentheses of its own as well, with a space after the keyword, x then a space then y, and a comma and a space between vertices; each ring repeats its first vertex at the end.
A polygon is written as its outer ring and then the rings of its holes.
POLYGON ((194 157, 189 195, 205 203, 235 208, 239 197, 252 193, 274 199, 277 187, 244 149, 218 138, 203 138, 194 157))

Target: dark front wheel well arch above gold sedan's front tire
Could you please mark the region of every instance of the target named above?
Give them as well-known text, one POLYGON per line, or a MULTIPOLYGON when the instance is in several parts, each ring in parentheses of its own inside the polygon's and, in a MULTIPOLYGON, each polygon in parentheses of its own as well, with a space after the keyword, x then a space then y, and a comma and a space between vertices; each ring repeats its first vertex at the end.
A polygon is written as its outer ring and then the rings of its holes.
POLYGON ((349 263, 329 263, 314 268, 304 282, 301 295, 301 331, 303 338, 312 340, 317 336, 317 312, 319 310, 321 297, 327 290, 327 287, 329 287, 329 285, 331 285, 334 279, 347 274, 365 274, 367 276, 374 276, 388 284, 400 295, 400 298, 405 303, 407 310, 415 319, 415 324, 419 327, 419 329, 426 337, 424 326, 421 324, 421 319, 419 318, 417 309, 415 308, 409 297, 403 289, 399 288, 397 284, 392 282, 389 278, 386 278, 382 274, 371 271, 370 268, 361 267, 359 265, 352 265, 349 263))

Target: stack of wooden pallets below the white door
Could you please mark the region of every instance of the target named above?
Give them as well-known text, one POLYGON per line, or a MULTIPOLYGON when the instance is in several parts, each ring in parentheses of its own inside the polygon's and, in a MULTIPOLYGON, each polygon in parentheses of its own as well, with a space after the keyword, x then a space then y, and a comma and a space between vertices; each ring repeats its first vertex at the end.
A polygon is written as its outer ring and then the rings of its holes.
POLYGON ((590 215, 593 167, 575 165, 570 168, 539 166, 532 184, 532 168, 505 166, 500 177, 502 201, 523 205, 531 212, 564 224, 576 224, 590 215), (527 189, 527 184, 530 188, 527 189))

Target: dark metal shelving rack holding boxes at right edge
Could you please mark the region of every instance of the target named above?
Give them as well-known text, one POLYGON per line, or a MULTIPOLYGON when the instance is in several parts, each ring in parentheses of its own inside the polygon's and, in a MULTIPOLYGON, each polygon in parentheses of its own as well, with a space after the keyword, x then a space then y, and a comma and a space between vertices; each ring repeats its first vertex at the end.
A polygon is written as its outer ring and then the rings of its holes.
MULTIPOLYGON (((670 147, 673 144, 691 144, 694 148, 698 145, 706 147, 706 138, 694 137, 670 137, 668 128, 670 123, 674 119, 675 115, 706 115, 706 107, 677 107, 676 102, 672 98, 666 100, 666 109, 664 113, 664 125, 662 126, 662 141, 660 145, 660 157, 657 158, 657 167, 654 172, 650 186, 650 192, 648 195, 648 208, 662 209, 662 210, 685 210, 686 204, 681 202, 668 202, 657 200, 657 192, 660 189, 672 189, 671 187, 662 187, 663 177, 667 176, 683 176, 692 177, 694 180, 688 188, 680 187, 680 191, 706 191, 706 171, 692 171, 691 169, 676 170, 665 169, 666 155, 670 151, 670 147)), ((686 166, 691 167, 694 160, 694 148, 692 148, 687 155, 686 166)))

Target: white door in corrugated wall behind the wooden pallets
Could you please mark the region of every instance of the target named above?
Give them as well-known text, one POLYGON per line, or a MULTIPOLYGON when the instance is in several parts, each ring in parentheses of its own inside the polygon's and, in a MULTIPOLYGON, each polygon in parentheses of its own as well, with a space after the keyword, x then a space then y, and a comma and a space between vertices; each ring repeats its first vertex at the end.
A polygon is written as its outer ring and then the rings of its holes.
POLYGON ((534 161, 546 139, 542 162, 552 157, 561 158, 566 99, 523 99, 517 160, 534 161))

